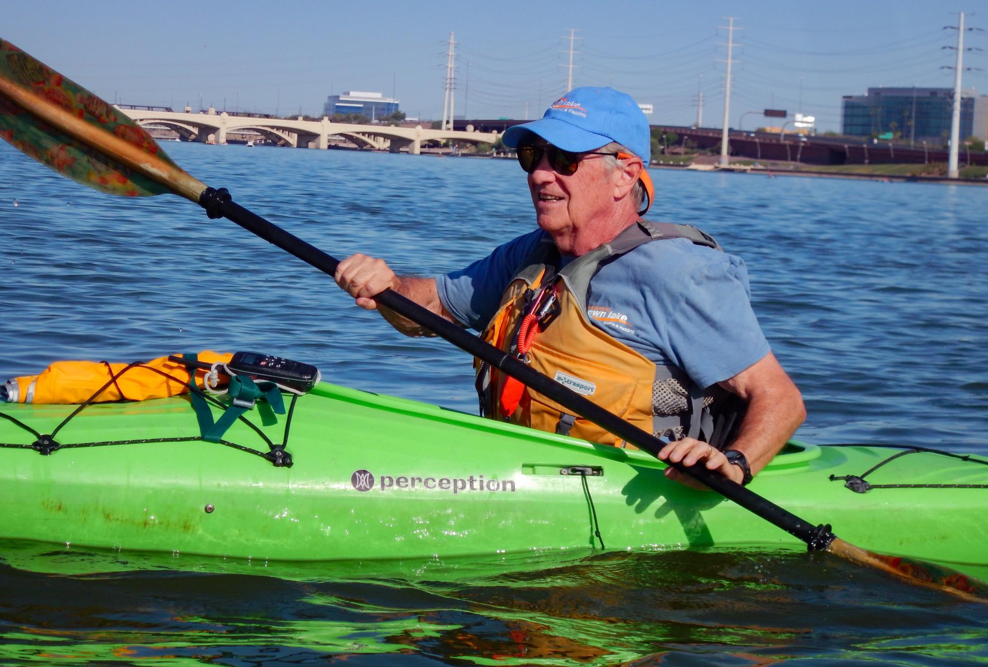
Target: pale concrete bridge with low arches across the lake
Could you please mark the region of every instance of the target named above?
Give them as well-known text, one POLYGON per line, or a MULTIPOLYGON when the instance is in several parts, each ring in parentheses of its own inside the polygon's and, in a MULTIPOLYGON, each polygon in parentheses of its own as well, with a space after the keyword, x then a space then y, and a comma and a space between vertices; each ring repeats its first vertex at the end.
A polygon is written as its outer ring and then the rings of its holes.
POLYGON ((121 109, 139 125, 165 125, 179 133, 186 141, 215 141, 226 143, 226 134, 232 131, 254 130, 265 138, 284 141, 295 148, 328 148, 329 137, 343 136, 358 146, 387 150, 398 153, 407 148, 412 155, 421 152, 422 144, 427 141, 467 141, 470 143, 494 143, 498 133, 476 132, 468 127, 465 130, 426 129, 421 125, 416 127, 392 127, 390 125, 361 125, 346 122, 330 122, 323 116, 322 120, 304 120, 298 116, 296 120, 287 118, 266 118, 257 116, 232 115, 225 111, 216 113, 210 109, 206 112, 191 113, 181 111, 144 111, 121 109))

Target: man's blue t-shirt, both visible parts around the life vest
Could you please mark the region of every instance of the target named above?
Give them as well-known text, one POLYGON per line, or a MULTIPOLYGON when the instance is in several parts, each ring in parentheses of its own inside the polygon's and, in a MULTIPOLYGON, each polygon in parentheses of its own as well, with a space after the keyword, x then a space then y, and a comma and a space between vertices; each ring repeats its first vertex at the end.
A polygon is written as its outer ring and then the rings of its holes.
MULTIPOLYGON (((477 331, 545 232, 520 236, 484 259, 437 277, 453 317, 477 331)), ((565 260, 565 259, 564 259, 565 260)), ((590 281, 591 322, 702 388, 732 378, 769 353, 751 307, 744 261, 687 239, 653 241, 603 264, 590 281)))

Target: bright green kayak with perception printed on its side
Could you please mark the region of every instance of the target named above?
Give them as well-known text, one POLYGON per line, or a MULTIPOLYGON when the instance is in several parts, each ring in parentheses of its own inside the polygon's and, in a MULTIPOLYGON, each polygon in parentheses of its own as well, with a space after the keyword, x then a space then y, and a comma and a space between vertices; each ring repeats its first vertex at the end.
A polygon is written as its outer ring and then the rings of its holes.
MULTIPOLYGON (((0 404, 0 539, 308 561, 801 545, 643 452, 327 383, 287 404, 218 443, 188 397, 60 428, 76 407, 0 404)), ((865 549, 985 565, 986 463, 793 441, 751 488, 865 549)))

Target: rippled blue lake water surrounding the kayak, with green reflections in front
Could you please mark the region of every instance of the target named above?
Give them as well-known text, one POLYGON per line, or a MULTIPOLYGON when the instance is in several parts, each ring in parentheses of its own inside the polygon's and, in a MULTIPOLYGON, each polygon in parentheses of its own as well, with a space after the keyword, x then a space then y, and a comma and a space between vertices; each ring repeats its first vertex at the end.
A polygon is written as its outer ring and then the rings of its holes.
MULTIPOLYGON (((534 224, 510 161, 165 149, 331 255, 399 272, 458 268, 534 224)), ((756 313, 806 402, 799 437, 988 453, 988 188, 652 176, 650 218, 696 224, 746 259, 756 313)), ((62 358, 257 349, 336 383, 475 406, 469 359, 448 343, 394 333, 330 278, 198 206, 100 194, 6 144, 0 271, 0 376, 62 358)), ((259 664, 266 651, 375 665, 393 651, 415 665, 988 660, 983 609, 802 555, 588 558, 456 586, 306 578, 0 564, 0 634, 17 646, 5 662, 58 659, 58 646, 67 662, 92 650, 155 664, 259 664)))

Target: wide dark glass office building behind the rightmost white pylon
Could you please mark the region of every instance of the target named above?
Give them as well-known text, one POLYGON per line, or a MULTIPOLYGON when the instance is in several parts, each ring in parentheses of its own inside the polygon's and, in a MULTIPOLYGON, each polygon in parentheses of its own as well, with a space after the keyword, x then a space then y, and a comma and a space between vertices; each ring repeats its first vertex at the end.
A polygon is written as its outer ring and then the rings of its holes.
MULTIPOLYGON (((960 138, 974 134, 975 93, 960 98, 960 138)), ((842 132, 877 136, 891 132, 903 140, 947 144, 953 112, 952 88, 869 88, 867 95, 846 95, 842 132)))

